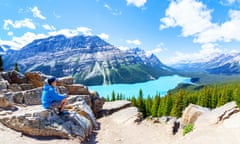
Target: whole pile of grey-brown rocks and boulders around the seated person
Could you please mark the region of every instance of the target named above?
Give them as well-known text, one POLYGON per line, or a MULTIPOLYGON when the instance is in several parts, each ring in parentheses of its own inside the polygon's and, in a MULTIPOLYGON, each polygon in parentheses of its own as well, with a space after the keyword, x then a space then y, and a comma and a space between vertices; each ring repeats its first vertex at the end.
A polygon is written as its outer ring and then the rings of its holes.
POLYGON ((0 122, 26 135, 83 141, 98 127, 96 116, 104 99, 86 86, 74 85, 72 77, 59 78, 57 90, 69 94, 67 112, 59 116, 41 106, 42 86, 47 77, 40 72, 0 73, 0 122))

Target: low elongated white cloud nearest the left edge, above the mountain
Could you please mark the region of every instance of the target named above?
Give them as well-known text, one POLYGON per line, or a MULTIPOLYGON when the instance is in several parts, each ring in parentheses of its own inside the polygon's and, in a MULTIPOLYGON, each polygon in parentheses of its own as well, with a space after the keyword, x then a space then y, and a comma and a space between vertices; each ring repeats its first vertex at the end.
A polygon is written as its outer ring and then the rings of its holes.
POLYGON ((4 25, 3 28, 5 30, 9 30, 9 25, 11 25, 13 28, 29 28, 29 29, 35 29, 36 26, 34 25, 34 23, 32 22, 31 19, 25 18, 24 20, 17 20, 15 22, 13 22, 12 20, 8 19, 8 20, 4 20, 4 25))

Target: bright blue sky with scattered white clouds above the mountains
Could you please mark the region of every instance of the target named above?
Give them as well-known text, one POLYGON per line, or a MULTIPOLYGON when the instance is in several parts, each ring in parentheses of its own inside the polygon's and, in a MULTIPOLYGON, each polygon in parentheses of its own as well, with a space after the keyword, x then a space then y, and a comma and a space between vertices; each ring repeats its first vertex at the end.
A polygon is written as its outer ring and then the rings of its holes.
POLYGON ((240 51, 240 0, 0 0, 0 46, 97 35, 165 64, 240 51))

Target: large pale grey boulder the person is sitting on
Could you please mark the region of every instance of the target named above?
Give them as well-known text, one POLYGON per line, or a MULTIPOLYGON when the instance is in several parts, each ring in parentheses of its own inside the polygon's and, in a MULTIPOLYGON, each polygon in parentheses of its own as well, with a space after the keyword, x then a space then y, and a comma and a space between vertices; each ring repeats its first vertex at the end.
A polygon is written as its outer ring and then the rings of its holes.
POLYGON ((97 127, 91 108, 84 101, 68 106, 69 113, 62 116, 41 106, 28 106, 0 117, 5 126, 31 136, 74 138, 84 140, 97 127))

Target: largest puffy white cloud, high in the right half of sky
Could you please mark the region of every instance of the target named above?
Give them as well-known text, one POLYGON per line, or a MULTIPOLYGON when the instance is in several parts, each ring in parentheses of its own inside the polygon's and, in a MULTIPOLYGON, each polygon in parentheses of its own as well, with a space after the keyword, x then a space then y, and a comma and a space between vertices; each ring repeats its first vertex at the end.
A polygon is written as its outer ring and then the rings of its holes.
POLYGON ((179 26, 185 37, 214 26, 210 21, 211 10, 196 0, 172 1, 165 15, 166 17, 160 19, 163 23, 160 25, 160 29, 179 26))

